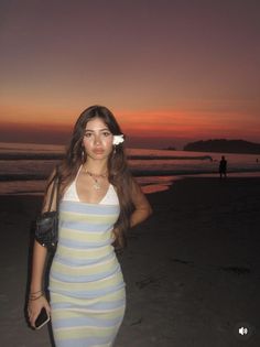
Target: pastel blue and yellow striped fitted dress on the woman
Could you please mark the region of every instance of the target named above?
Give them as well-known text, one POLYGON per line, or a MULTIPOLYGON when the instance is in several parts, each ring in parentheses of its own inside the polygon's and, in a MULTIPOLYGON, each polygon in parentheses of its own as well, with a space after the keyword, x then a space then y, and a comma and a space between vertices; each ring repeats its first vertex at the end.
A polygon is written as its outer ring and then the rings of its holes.
MULTIPOLYGON (((108 195, 115 192, 110 185, 108 195)), ((116 194, 116 192, 115 192, 116 194)), ((58 246, 50 272, 56 347, 112 346, 126 308, 111 231, 118 204, 59 204, 58 246)))

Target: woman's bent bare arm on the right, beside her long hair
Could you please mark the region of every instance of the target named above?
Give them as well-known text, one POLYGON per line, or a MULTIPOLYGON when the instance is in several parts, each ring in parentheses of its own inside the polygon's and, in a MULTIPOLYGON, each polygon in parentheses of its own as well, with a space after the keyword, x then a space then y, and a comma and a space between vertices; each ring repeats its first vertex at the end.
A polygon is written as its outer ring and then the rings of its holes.
POLYGON ((130 217, 130 227, 142 223, 152 214, 152 207, 136 181, 132 182, 132 203, 134 210, 130 217))

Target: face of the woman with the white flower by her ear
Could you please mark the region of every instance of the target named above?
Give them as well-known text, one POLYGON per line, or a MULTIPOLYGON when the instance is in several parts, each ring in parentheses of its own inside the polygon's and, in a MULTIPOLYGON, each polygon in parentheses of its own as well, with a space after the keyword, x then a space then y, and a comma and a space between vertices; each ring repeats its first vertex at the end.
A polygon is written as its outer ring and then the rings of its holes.
POLYGON ((83 145, 87 156, 91 159, 108 159, 112 151, 113 135, 101 118, 94 118, 86 124, 83 145))

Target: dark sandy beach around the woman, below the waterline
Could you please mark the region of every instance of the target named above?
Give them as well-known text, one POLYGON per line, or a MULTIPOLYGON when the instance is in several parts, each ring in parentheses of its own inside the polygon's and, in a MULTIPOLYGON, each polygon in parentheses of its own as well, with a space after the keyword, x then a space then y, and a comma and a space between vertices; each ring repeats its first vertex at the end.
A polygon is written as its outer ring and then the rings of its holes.
MULTIPOLYGON (((259 347, 260 178, 189 177, 148 197, 153 216, 118 256, 128 306, 115 347, 259 347)), ((24 318, 41 200, 0 196, 3 347, 51 346, 24 318)))

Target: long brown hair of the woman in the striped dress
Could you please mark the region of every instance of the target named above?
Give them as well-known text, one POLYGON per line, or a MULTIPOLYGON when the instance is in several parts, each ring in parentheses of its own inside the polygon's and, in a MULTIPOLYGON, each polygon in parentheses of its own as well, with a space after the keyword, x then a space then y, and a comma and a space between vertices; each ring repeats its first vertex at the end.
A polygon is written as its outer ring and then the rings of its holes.
MULTIPOLYGON (((83 139, 87 122, 94 118, 100 118, 112 134, 122 134, 115 116, 108 108, 104 106, 91 106, 80 113, 74 126, 71 143, 66 151, 64 162, 58 169, 61 197, 63 196, 65 188, 75 178, 80 165, 87 160, 83 148, 83 139)), ((117 230, 116 242, 119 247, 123 247, 126 245, 124 234, 129 228, 130 214, 133 207, 131 195, 134 181, 127 163, 122 143, 117 147, 115 145, 113 151, 108 158, 108 181, 116 187, 118 193, 120 215, 115 225, 115 229, 117 230)))

